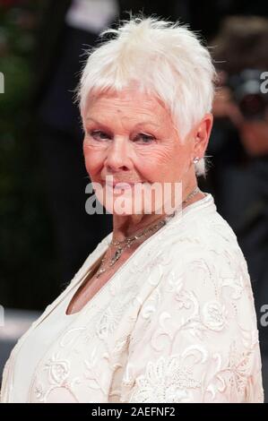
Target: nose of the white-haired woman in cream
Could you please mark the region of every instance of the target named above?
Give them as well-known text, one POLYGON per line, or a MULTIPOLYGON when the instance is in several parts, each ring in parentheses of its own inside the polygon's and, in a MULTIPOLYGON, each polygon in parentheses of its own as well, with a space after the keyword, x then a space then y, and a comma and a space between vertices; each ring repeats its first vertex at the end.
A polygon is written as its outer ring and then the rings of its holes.
POLYGON ((133 168, 130 145, 125 136, 115 136, 107 153, 105 165, 109 172, 126 171, 133 168))

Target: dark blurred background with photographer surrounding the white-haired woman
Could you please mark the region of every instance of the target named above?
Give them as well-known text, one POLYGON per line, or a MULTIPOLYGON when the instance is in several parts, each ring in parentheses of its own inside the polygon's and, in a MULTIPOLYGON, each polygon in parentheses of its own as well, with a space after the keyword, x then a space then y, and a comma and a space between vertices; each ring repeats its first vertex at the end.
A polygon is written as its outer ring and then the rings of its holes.
POLYGON ((219 84, 199 185, 246 256, 267 395, 268 11, 258 0, 0 0, 0 379, 14 343, 112 229, 111 215, 84 210, 73 90, 84 49, 130 10, 188 23, 211 47, 219 84))

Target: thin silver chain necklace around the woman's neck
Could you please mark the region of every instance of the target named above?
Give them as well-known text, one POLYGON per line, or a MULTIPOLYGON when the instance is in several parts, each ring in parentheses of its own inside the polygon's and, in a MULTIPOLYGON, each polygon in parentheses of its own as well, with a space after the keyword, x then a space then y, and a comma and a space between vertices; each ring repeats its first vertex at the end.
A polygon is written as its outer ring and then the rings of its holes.
MULTIPOLYGON (((198 186, 196 186, 195 189, 193 190, 193 192, 189 193, 187 195, 186 199, 182 203, 188 202, 190 199, 192 199, 192 197, 195 196, 196 193, 199 193, 199 192, 200 192, 200 189, 199 189, 198 186)), ((121 254, 124 252, 125 248, 131 247, 131 245, 133 245, 134 241, 138 240, 139 238, 141 238, 143 236, 147 236, 148 233, 150 233, 154 229, 158 229, 158 228, 161 228, 164 225, 166 225, 167 222, 169 221, 169 219, 174 217, 175 213, 176 213, 176 211, 174 211, 168 217, 166 216, 165 219, 161 219, 160 222, 158 222, 157 224, 154 224, 152 227, 144 228, 143 231, 141 232, 141 234, 135 234, 134 236, 128 236, 122 241, 110 241, 109 245, 119 245, 119 246, 117 247, 117 250, 114 253, 114 255, 112 256, 112 258, 110 259, 110 261, 108 263, 108 267, 113 266, 117 262, 117 260, 121 257, 121 254)), ((99 278, 99 276, 107 270, 106 268, 102 268, 102 265, 105 262, 105 260, 106 260, 105 257, 103 257, 101 259, 101 262, 100 262, 100 265, 99 265, 99 271, 97 271, 96 278, 99 278)))

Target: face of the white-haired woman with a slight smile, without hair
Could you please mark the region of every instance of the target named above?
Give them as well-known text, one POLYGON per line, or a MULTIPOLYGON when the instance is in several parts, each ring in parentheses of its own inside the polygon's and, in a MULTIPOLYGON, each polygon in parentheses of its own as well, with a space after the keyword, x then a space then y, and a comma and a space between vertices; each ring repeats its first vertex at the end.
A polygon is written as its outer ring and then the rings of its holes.
MULTIPOLYGON (((174 183, 188 183, 189 177, 195 176, 193 142, 181 142, 168 110, 155 97, 131 89, 91 96, 82 119, 85 165, 94 190, 94 184, 99 183, 102 194, 109 197, 108 202, 95 190, 109 212, 118 213, 115 201, 118 204, 125 199, 132 201, 125 214, 142 213, 147 208, 144 202, 137 202, 141 193, 135 193, 134 187, 150 189, 157 182, 163 188, 170 184, 174 197, 174 183), (114 182, 128 183, 131 188, 105 185, 107 176, 113 176, 114 182)), ((143 194, 152 206, 157 202, 159 208, 163 203, 163 196, 158 202, 149 190, 143 194)))

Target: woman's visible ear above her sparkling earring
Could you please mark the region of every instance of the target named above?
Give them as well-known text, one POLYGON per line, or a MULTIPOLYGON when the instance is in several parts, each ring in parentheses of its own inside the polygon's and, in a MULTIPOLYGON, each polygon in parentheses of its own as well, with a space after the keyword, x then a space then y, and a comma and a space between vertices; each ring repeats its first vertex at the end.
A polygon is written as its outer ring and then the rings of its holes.
MULTIPOLYGON (((201 122, 195 128, 194 139, 194 155, 198 158, 203 158, 204 152, 207 149, 210 135, 212 132, 213 116, 212 113, 207 113, 203 116, 201 122)), ((193 157, 193 158, 195 158, 193 157)))

